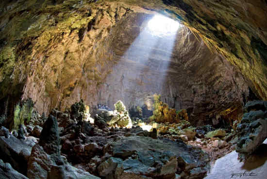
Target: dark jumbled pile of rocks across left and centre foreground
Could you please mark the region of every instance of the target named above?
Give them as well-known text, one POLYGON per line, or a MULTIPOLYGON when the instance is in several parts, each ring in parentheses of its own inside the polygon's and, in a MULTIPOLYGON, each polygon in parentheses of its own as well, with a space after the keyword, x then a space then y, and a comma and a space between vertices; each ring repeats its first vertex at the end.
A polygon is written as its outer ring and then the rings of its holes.
POLYGON ((75 103, 66 112, 53 109, 49 117, 39 115, 34 119, 37 122, 21 127, 25 138, 17 139, 2 127, 0 150, 14 169, 8 164, 1 164, 0 169, 13 176, 21 174, 22 179, 205 176, 209 158, 199 147, 158 137, 156 129, 111 127, 108 119, 98 117, 95 124, 84 120, 83 103, 75 103))

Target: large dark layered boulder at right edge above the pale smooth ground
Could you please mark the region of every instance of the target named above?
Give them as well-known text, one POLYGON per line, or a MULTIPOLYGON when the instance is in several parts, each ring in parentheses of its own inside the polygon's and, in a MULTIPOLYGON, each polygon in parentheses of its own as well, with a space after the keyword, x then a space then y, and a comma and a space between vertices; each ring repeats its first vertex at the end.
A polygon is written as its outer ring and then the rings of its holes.
POLYGON ((267 102, 251 101, 246 104, 247 112, 236 127, 238 142, 236 152, 239 158, 246 159, 267 138, 267 102))

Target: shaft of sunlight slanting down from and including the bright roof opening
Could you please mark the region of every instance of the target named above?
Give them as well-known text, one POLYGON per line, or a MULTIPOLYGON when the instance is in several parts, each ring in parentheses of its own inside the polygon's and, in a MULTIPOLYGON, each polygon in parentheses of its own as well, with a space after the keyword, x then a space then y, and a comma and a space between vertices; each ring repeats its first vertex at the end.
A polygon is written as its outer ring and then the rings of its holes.
MULTIPOLYGON (((146 78, 147 74, 156 76, 156 82, 151 84, 154 87, 146 87, 147 89, 143 90, 148 93, 162 93, 167 85, 166 76, 170 72, 172 52, 180 26, 178 21, 161 15, 152 17, 146 26, 140 28, 139 35, 121 56, 117 63, 117 70, 120 66, 127 65, 126 68, 129 71, 123 73, 125 79, 131 79, 132 82, 138 81, 140 84, 150 83, 150 79, 146 78), (150 91, 151 89, 155 91, 150 91)), ((128 89, 131 81, 123 81, 124 90, 138 90, 137 88, 128 89)), ((141 102, 140 105, 142 105, 141 102)))

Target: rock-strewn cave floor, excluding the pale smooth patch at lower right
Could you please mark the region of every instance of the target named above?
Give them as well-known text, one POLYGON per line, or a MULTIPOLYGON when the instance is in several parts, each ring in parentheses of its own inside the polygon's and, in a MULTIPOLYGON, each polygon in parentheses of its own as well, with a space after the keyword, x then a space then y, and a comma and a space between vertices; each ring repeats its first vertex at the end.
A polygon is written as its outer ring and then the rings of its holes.
MULTIPOLYGON (((249 108, 246 114, 253 118, 255 111, 249 108)), ((265 110, 263 116, 266 114, 265 110)), ((11 134, 2 126, 0 159, 6 163, 0 160, 1 176, 201 179, 238 143, 236 123, 231 130, 211 125, 193 127, 185 120, 178 124, 150 123, 153 130, 149 132, 142 129, 148 124, 140 119, 133 120, 131 128, 123 128, 107 125, 100 117, 94 124, 83 118, 79 110, 64 113, 53 109, 49 117, 33 113, 30 124, 20 125, 18 133, 11 134)))

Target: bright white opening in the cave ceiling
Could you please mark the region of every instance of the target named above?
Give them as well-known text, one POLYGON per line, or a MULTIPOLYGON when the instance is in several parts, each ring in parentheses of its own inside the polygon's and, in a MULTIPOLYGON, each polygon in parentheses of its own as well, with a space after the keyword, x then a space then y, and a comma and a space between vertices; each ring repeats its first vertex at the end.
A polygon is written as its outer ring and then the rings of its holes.
POLYGON ((149 22, 148 28, 155 36, 169 36, 177 32, 180 23, 171 18, 155 15, 149 22))

